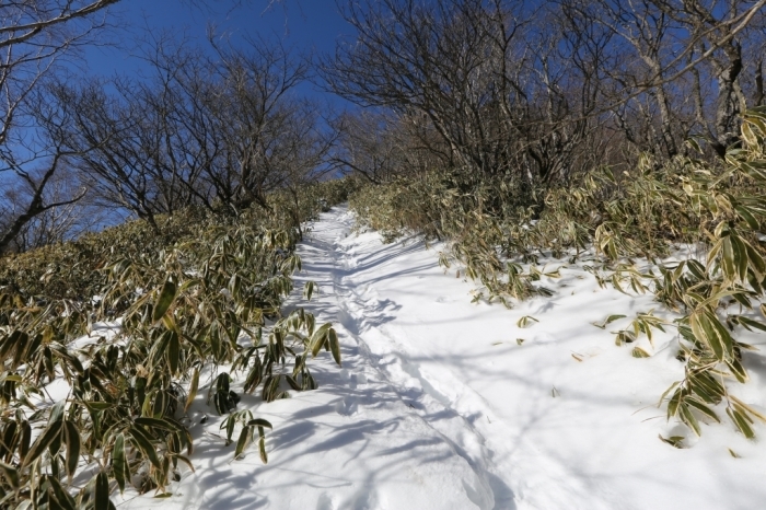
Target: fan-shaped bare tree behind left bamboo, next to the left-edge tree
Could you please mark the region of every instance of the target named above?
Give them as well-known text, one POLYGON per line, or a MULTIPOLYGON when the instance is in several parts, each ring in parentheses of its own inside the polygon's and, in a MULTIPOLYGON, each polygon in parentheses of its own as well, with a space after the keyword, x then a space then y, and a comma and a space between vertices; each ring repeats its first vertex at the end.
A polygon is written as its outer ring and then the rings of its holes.
POLYGON ((61 117, 43 128, 77 158, 81 179, 107 207, 124 207, 158 229, 154 217, 189 205, 185 167, 174 151, 174 104, 162 92, 130 81, 58 83, 50 95, 61 117))

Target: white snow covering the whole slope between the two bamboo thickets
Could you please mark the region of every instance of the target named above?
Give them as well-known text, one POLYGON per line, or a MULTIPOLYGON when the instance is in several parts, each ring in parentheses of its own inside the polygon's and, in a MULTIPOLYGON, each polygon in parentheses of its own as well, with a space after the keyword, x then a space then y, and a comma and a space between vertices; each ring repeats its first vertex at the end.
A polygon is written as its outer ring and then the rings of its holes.
MULTIPOLYGON (((352 228, 343 207, 313 224, 288 303, 334 323, 343 368, 323 352, 312 364, 318 390, 270 404, 243 395, 237 407, 274 425, 269 463, 255 447, 233 459, 219 430, 224 417, 205 405, 200 387, 190 410, 196 472, 172 484, 167 498, 117 495, 119 508, 763 508, 763 439, 746 440, 720 409, 722 424, 703 425, 696 439, 657 407, 683 378, 674 329, 658 332, 653 347, 645 336, 615 346, 611 332, 637 313, 672 318, 650 294, 602 289, 582 265, 541 260, 561 267, 561 278, 539 282, 552 298, 512 310, 473 304, 476 283, 438 266, 439 245, 414 237, 385 245, 352 228), (309 280, 320 294, 305 303, 309 280), (592 325, 616 313, 627 317, 592 325), (521 328, 524 315, 538 322, 521 328), (631 357, 635 346, 652 357, 631 357), (684 436, 687 448, 658 434, 684 436)), ((742 338, 764 345, 750 335, 742 338)), ((764 409, 766 363, 759 352, 745 363, 751 381, 733 384, 734 394, 764 409)), ((766 426, 755 430, 766 438, 766 426)))

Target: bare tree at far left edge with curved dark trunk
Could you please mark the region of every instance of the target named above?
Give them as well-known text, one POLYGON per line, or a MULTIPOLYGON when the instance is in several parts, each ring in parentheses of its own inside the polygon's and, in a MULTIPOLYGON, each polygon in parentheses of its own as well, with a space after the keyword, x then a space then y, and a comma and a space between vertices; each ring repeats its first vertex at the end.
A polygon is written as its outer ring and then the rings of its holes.
POLYGON ((7 185, 23 183, 28 192, 27 202, 19 204, 2 223, 0 252, 33 218, 81 196, 46 201, 45 187, 69 154, 57 146, 34 144, 35 136, 30 131, 34 129, 34 108, 39 104, 39 98, 34 96, 61 58, 95 40, 106 25, 106 8, 116 2, 0 2, 0 176, 7 185))

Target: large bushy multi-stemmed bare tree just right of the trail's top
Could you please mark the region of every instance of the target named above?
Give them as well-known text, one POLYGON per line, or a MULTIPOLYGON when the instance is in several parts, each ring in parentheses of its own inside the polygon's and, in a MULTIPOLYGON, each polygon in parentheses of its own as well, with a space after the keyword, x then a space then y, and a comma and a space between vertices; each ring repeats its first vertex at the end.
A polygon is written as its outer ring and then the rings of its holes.
POLYGON ((561 33, 537 21, 546 15, 501 0, 349 2, 359 36, 325 59, 322 76, 362 106, 423 116, 466 174, 529 190, 571 171, 596 107, 590 60, 602 58, 579 54, 573 72, 561 33))

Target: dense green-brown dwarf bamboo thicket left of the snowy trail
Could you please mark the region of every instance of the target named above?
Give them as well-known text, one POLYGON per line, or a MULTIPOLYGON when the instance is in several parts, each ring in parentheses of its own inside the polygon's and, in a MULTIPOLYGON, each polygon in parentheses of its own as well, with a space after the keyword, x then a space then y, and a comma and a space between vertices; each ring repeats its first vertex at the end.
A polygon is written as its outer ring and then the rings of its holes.
MULTIPOLYGON (((111 492, 130 485, 162 494, 179 464, 194 470, 187 410, 206 383, 208 405, 229 414, 234 456, 257 442, 266 462, 271 426, 235 410, 230 383, 242 373, 245 392, 271 402, 288 385, 317 386, 310 359, 323 348, 340 364, 332 324, 301 308, 285 316, 281 304, 301 268, 300 223, 350 186, 275 193, 239 216, 187 209, 159 232, 137 220, 5 256, 0 508, 114 508, 111 492), (61 379, 68 393, 55 402, 46 386, 61 379), (85 468, 97 474, 83 479, 85 468)), ((313 291, 306 283, 304 298, 313 291)))

